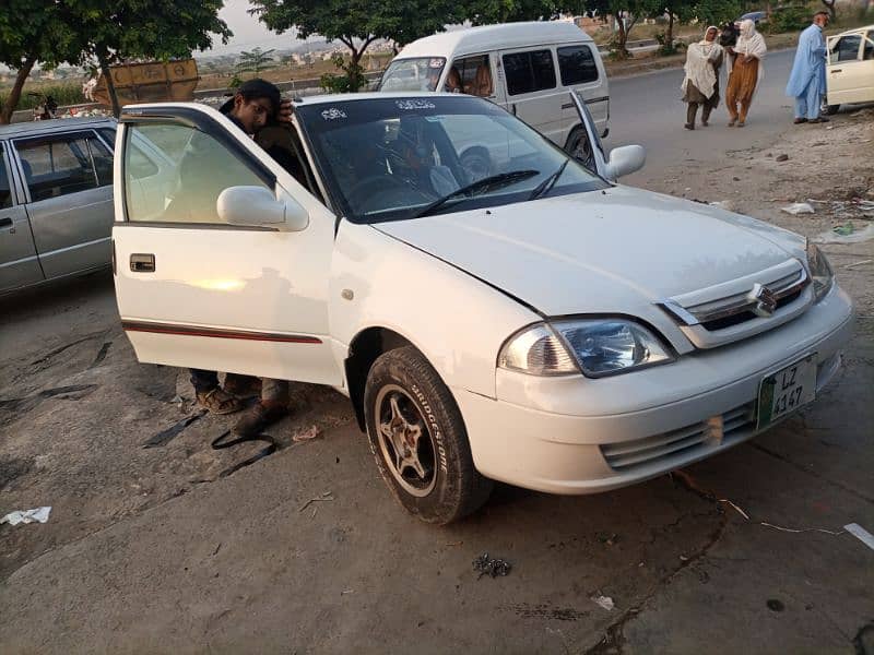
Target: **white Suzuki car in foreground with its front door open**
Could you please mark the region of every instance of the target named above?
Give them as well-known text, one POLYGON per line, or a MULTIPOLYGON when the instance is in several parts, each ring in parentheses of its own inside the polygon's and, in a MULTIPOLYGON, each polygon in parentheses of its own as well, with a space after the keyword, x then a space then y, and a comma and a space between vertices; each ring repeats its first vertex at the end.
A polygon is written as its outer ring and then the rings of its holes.
POLYGON ((307 98, 285 167, 208 107, 126 107, 113 238, 137 356, 339 389, 433 523, 492 480, 645 480, 812 402, 853 313, 822 252, 609 181, 640 148, 605 158, 582 109, 593 170, 458 94, 307 98), (500 170, 461 166, 459 122, 504 134, 500 170))

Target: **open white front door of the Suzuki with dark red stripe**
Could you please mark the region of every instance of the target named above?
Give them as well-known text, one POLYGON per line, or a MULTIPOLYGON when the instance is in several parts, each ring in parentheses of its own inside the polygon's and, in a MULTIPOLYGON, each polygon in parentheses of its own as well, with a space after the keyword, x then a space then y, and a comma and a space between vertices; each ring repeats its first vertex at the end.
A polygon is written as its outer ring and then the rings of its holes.
POLYGON ((328 337, 333 215, 214 110, 160 111, 161 122, 122 116, 117 206, 125 221, 113 230, 115 281, 138 358, 341 384, 328 337), (161 165, 147 165, 156 151, 161 165), (233 186, 296 200, 309 225, 302 231, 229 225, 216 200, 233 186))

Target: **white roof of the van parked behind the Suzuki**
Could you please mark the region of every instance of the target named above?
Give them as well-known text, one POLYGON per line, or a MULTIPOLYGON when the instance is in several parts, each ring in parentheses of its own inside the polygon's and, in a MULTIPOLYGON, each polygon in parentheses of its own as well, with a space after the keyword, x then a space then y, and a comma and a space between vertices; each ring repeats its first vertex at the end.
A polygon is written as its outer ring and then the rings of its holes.
POLYGON ((444 57, 579 41, 593 43, 591 36, 568 21, 504 23, 426 36, 405 46, 395 59, 444 57))

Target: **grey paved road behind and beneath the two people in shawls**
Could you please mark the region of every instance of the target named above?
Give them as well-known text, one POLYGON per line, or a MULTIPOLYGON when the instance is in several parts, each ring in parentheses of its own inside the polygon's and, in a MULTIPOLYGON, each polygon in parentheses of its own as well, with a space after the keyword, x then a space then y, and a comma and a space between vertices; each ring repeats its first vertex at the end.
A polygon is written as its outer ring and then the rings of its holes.
MULTIPOLYGON (((681 102, 682 69, 658 71, 610 83, 609 148, 639 143, 647 148, 647 166, 623 178, 634 186, 649 186, 669 166, 684 159, 716 160, 730 150, 766 147, 777 140, 792 120, 791 98, 783 90, 792 68, 794 50, 770 53, 765 60, 765 78, 753 100, 746 127, 729 128, 724 104, 725 73, 722 72, 722 100, 709 128, 689 132, 686 105, 681 102)), ((699 115, 700 119, 700 115, 699 115)))

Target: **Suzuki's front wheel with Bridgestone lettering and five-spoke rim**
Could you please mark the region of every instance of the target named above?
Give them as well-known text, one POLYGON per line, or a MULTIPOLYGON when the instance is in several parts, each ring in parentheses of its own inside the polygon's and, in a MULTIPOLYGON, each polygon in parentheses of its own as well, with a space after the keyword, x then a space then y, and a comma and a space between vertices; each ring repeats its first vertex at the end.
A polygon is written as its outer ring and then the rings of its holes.
POLYGON ((473 466, 458 405, 414 347, 389 350, 374 362, 364 413, 379 473, 410 513, 445 525, 488 499, 493 483, 473 466))

